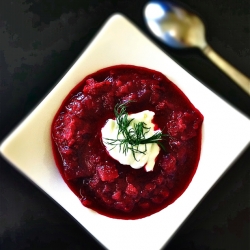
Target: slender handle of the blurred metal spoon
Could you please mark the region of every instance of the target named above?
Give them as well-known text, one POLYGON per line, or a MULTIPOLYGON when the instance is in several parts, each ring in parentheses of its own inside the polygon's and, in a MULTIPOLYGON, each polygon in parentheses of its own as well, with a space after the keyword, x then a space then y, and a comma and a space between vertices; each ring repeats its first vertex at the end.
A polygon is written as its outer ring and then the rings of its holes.
POLYGON ((214 64, 216 64, 222 71, 224 71, 224 73, 234 80, 238 86, 250 95, 250 79, 248 77, 243 75, 222 57, 220 57, 209 45, 207 45, 202 51, 214 64))

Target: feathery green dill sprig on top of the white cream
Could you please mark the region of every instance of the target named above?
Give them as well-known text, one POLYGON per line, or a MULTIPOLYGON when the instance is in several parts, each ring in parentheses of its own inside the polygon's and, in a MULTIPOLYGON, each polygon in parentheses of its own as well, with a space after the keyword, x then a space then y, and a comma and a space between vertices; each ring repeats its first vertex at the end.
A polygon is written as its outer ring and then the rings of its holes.
MULTIPOLYGON (((162 140, 163 136, 167 136, 166 134, 163 134, 161 131, 157 131, 154 135, 152 135, 149 138, 146 138, 146 134, 150 131, 150 128, 146 127, 145 122, 138 122, 134 123, 132 126, 131 122, 134 119, 128 118, 128 113, 126 111, 126 106, 129 102, 128 101, 122 104, 116 104, 114 108, 114 113, 116 117, 116 122, 118 125, 118 134, 116 139, 108 139, 105 138, 106 143, 109 145, 113 145, 115 148, 116 146, 119 146, 119 150, 122 150, 122 153, 125 155, 127 154, 128 150, 131 150, 134 159, 137 161, 135 154, 136 153, 142 153, 145 154, 147 151, 147 144, 148 143, 157 143, 161 148, 165 150, 165 147, 160 142, 162 140), (129 128, 130 126, 130 128, 129 128), (120 139, 119 134, 122 134, 124 139, 120 139), (144 148, 142 149, 139 146, 144 145, 144 148)), ((111 148, 110 150, 112 150, 111 148)))

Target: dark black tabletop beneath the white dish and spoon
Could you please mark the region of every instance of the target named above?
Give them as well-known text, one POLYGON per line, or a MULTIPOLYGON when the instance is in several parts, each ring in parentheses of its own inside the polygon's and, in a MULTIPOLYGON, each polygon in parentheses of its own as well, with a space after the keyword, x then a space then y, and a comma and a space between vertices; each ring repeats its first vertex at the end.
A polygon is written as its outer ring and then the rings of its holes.
MULTIPOLYGON (((55 86, 111 14, 123 13, 155 40, 143 21, 146 2, 0 1, 0 141, 55 86)), ((250 77, 249 0, 181 1, 184 2, 202 17, 211 47, 250 77)), ((250 117, 249 96, 200 51, 175 51, 155 42, 204 85, 250 117)), ((0 171, 1 250, 103 249, 67 212, 3 158, 0 171)), ((249 197, 250 146, 164 249, 250 249, 249 197)))

